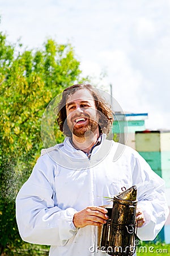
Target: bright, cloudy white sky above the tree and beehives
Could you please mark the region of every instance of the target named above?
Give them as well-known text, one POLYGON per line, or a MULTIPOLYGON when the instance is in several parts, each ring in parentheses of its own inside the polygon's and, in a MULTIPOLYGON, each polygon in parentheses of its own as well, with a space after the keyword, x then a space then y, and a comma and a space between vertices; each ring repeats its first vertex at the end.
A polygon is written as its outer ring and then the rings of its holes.
POLYGON ((0 31, 28 49, 71 43, 84 76, 146 129, 170 130, 169 0, 0 0, 0 31))

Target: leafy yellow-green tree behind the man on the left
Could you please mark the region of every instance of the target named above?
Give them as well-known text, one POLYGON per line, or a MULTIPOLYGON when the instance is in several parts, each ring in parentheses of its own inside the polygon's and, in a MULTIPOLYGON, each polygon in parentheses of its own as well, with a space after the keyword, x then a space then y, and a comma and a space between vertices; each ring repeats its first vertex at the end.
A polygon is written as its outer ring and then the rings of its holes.
MULTIPOLYGON (((43 147, 41 118, 49 102, 80 79, 70 44, 49 39, 28 51, 0 33, 0 255, 20 246, 15 197, 43 147)), ((56 142, 63 139, 56 127, 56 142)), ((8 254, 9 255, 9 254, 8 254)), ((15 250, 16 255, 16 250, 15 250)))

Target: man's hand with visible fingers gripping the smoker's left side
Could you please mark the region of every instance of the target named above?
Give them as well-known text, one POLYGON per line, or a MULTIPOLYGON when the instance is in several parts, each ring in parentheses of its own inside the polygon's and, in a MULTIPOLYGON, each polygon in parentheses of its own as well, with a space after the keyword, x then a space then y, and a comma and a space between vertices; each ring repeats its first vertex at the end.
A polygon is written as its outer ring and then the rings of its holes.
POLYGON ((74 214, 73 223, 76 228, 84 228, 88 225, 101 226, 108 220, 107 212, 107 209, 102 207, 87 207, 74 214))

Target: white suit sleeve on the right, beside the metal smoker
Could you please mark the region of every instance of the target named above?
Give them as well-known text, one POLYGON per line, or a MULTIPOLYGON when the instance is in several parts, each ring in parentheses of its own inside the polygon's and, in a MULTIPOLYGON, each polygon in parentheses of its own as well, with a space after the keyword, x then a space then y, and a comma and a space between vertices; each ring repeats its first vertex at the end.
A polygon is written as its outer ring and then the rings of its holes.
POLYGON ((138 207, 145 216, 145 224, 138 228, 141 240, 154 240, 167 220, 169 209, 164 193, 164 180, 155 174, 137 152, 135 153, 133 183, 138 187, 138 207))

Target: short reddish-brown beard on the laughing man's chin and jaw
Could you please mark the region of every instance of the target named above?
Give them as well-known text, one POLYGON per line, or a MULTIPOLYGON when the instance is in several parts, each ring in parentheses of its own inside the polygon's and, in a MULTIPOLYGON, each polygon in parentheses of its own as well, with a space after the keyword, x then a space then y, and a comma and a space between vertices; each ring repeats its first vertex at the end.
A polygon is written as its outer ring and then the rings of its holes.
POLYGON ((92 133, 94 133, 96 131, 96 129, 98 128, 98 123, 92 119, 89 119, 89 123, 86 126, 82 126, 82 127, 73 127, 73 134, 76 137, 84 137, 84 134, 87 131, 92 131, 92 133))

